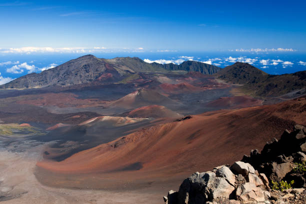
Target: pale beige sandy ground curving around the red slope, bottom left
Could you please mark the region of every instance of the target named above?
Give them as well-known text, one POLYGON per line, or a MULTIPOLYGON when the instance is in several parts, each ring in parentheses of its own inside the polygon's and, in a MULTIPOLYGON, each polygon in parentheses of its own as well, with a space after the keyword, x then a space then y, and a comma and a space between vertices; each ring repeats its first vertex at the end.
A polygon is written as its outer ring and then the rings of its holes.
POLYGON ((53 188, 40 184, 33 171, 43 145, 25 152, 0 150, 0 202, 6 203, 163 203, 157 193, 53 188), (7 199, 7 200, 5 200, 7 199))

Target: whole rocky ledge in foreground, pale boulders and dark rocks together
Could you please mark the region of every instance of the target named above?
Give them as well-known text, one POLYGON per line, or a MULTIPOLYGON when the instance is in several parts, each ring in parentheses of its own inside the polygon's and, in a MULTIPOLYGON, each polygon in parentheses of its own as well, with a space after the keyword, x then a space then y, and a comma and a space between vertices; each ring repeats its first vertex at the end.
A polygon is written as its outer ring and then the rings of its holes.
POLYGON ((183 180, 178 192, 170 190, 166 204, 202 203, 306 203, 306 172, 296 170, 306 161, 306 127, 295 125, 279 140, 267 142, 259 153, 251 150, 241 161, 207 172, 195 172, 183 180), (290 189, 275 190, 273 182, 294 180, 290 189))

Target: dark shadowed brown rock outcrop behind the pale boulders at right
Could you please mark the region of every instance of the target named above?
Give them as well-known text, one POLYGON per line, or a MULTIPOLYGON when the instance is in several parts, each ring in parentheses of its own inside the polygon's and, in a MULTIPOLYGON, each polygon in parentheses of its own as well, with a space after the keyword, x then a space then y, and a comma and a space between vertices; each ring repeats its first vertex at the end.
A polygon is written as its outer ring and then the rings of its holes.
POLYGON ((244 155, 242 161, 250 163, 260 173, 264 173, 269 180, 294 180, 295 185, 306 187, 305 172, 297 173, 293 170, 295 163, 306 160, 305 127, 296 124, 294 130, 285 130, 280 139, 267 142, 259 153, 251 150, 250 155, 244 155))

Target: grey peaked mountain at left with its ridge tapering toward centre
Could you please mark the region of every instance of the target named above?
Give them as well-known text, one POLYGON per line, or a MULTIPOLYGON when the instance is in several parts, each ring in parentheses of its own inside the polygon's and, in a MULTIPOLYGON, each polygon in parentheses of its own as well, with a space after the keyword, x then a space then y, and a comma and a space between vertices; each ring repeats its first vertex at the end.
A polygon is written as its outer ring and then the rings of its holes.
POLYGON ((119 81, 135 72, 199 71, 213 74, 221 68, 198 61, 181 64, 147 63, 138 57, 97 58, 91 54, 67 61, 40 73, 16 78, 0 88, 30 88, 48 85, 73 85, 92 81, 119 81))

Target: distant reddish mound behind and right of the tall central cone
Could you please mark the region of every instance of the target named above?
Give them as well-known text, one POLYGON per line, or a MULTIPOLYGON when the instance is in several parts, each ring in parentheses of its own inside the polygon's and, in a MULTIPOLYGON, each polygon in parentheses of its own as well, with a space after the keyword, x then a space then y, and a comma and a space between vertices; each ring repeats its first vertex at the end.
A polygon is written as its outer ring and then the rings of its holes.
POLYGON ((170 83, 162 83, 159 85, 163 91, 168 93, 184 93, 184 92, 198 92, 203 91, 203 88, 196 87, 191 85, 190 83, 183 82, 177 84, 170 84, 170 83))

